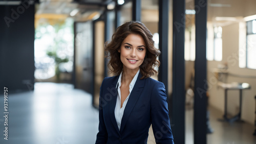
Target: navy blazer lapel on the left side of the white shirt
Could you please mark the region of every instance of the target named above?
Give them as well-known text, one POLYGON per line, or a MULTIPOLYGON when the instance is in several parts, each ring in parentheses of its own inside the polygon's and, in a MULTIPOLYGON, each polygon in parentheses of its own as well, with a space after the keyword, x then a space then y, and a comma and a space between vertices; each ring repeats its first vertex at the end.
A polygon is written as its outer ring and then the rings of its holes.
POLYGON ((110 100, 109 112, 110 112, 111 122, 113 123, 116 131, 120 135, 119 129, 118 129, 118 126, 117 126, 117 123, 116 123, 116 117, 115 117, 116 99, 117 99, 117 94, 118 94, 116 84, 117 84, 118 78, 119 77, 117 77, 116 80, 114 80, 114 82, 111 84, 110 89, 109 89, 109 92, 112 95, 112 99, 110 100))

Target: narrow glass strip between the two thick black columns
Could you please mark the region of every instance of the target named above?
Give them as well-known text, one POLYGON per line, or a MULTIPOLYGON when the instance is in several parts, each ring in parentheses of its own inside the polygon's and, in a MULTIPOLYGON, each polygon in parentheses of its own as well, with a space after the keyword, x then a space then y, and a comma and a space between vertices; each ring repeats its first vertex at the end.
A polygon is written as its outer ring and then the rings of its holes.
POLYGON ((194 143, 194 83, 196 58, 195 0, 185 3, 185 143, 194 143))

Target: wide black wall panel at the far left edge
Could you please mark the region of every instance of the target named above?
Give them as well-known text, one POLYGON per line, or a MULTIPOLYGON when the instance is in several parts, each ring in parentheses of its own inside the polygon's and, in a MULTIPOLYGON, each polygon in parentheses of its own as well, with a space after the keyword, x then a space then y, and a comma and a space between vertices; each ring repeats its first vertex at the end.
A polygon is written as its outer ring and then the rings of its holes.
POLYGON ((0 86, 34 89, 35 5, 0 6, 0 86))

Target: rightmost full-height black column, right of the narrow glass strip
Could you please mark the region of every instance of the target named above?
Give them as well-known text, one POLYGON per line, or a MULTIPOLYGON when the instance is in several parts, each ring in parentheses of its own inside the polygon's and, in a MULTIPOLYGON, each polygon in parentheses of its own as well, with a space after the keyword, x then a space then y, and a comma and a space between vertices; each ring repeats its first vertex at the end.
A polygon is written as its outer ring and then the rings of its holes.
POLYGON ((206 25, 207 0, 195 0, 196 10, 196 60, 194 143, 206 143, 206 25))

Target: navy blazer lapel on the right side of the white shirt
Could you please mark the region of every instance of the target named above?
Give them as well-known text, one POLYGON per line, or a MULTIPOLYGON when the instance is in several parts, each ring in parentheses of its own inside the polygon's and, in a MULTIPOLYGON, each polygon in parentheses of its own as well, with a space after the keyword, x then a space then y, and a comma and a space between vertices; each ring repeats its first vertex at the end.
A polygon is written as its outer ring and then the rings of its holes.
POLYGON ((137 100, 140 97, 140 93, 144 87, 144 83, 145 83, 145 79, 140 79, 141 78, 141 74, 139 73, 139 76, 137 78, 137 81, 134 85, 133 90, 131 91, 131 95, 130 98, 125 106, 124 112, 123 112, 123 117, 122 117, 122 121, 121 121, 121 127, 120 127, 120 133, 122 133, 123 128, 127 122, 127 119, 129 118, 130 113, 133 110, 133 107, 135 106, 137 100))

